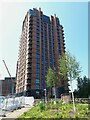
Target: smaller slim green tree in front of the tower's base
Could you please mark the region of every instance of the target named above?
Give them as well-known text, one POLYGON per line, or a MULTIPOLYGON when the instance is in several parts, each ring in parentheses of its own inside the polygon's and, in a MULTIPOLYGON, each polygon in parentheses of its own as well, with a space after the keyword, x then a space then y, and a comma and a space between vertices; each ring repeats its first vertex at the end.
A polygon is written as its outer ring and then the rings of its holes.
POLYGON ((46 76, 47 79, 47 86, 52 88, 54 87, 55 90, 55 104, 56 104, 56 84, 57 84, 57 76, 55 75, 55 72, 53 69, 49 68, 48 69, 48 74, 46 76))

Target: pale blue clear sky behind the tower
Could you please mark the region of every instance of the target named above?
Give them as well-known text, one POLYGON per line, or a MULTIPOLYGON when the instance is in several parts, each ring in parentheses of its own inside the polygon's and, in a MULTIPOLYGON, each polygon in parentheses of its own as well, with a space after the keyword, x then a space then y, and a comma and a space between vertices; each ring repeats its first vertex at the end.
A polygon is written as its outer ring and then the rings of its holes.
POLYGON ((88 3, 87 2, 0 2, 0 79, 8 77, 5 60, 12 76, 16 75, 22 22, 29 9, 39 7, 45 15, 56 14, 64 27, 66 50, 88 77, 88 3))

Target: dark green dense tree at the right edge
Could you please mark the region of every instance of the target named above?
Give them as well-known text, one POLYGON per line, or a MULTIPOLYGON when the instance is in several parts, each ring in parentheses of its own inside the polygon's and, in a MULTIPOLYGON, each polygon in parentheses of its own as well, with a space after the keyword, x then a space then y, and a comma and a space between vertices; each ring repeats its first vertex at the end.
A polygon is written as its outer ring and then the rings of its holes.
POLYGON ((78 89, 75 94, 79 98, 88 98, 90 96, 90 79, 84 76, 83 78, 77 79, 78 89))

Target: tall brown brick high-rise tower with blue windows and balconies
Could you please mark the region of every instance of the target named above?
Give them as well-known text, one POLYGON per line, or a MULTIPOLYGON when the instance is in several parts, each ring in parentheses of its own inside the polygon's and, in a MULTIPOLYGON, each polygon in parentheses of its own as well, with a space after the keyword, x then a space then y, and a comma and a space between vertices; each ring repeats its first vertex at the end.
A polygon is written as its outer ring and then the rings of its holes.
MULTIPOLYGON (((65 53, 64 42, 63 26, 56 15, 48 17, 40 8, 27 12, 19 46, 16 93, 41 95, 48 68, 58 71, 59 56, 65 53)), ((60 79, 58 87, 66 90, 67 81, 60 79)))

